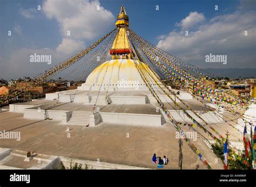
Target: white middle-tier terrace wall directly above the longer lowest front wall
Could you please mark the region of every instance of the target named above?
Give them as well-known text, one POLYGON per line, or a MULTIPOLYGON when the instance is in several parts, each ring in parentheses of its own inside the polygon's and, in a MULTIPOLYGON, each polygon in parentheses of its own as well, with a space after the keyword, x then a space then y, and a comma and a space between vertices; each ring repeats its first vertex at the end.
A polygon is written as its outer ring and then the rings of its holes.
POLYGON ((109 96, 110 103, 113 104, 145 104, 145 96, 109 96))

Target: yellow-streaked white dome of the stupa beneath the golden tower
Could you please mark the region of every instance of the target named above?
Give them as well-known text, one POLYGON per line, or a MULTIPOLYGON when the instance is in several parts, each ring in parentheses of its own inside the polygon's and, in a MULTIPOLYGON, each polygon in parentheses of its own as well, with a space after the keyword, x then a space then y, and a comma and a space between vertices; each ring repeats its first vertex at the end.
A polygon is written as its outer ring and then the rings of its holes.
MULTIPOLYGON (((159 79, 147 65, 141 62, 140 64, 147 72, 150 72, 155 80, 159 79)), ((151 79, 150 84, 155 84, 155 82, 151 79)), ((106 61, 96 67, 78 89, 116 91, 119 89, 147 89, 147 87, 134 64, 134 60, 117 59, 106 61)))

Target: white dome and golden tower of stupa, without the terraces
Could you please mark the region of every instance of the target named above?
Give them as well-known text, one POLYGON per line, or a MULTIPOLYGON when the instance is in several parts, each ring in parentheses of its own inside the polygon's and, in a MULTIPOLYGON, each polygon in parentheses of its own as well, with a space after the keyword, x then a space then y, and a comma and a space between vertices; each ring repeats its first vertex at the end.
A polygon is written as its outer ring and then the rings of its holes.
MULTIPOLYGON (((85 83, 78 87, 78 89, 100 89, 102 91, 147 89, 134 64, 134 59, 132 59, 132 50, 127 37, 127 34, 129 34, 127 31, 129 17, 124 6, 121 7, 120 13, 117 16, 116 26, 118 32, 110 50, 112 60, 106 61, 95 68, 87 77, 85 83)), ((159 79, 147 65, 142 62, 139 63, 153 74, 154 79, 159 79)))

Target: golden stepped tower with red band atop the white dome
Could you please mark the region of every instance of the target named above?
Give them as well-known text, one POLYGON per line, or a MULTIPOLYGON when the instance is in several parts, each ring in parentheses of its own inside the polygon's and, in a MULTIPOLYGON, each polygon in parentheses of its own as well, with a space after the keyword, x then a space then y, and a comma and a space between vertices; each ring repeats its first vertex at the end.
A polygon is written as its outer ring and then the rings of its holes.
POLYGON ((127 16, 124 6, 121 7, 117 16, 116 26, 118 27, 118 33, 110 50, 112 59, 131 59, 131 50, 129 49, 126 32, 126 28, 129 27, 129 16, 127 16))

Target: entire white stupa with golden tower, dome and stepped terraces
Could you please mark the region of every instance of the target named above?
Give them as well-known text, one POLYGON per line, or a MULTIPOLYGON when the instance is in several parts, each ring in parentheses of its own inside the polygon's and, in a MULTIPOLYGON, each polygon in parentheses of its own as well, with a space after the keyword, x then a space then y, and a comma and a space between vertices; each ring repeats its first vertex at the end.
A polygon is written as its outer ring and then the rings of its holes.
MULTIPOLYGON (((61 120, 61 124, 90 124, 92 127, 100 122, 106 122, 160 127, 167 119, 165 112, 159 108, 157 100, 152 95, 148 87, 150 85, 177 121, 190 123, 191 120, 184 112, 177 110, 178 107, 163 92, 163 89, 168 91, 161 84, 157 73, 134 55, 127 32, 129 16, 124 6, 117 16, 116 27, 117 34, 109 51, 112 59, 96 67, 78 89, 49 93, 46 94, 45 100, 41 101, 10 105, 10 111, 24 113, 24 117, 29 119, 61 120), (147 77, 148 85, 136 65, 151 74, 151 77, 147 77)), ((173 91, 178 92, 174 89, 173 91)), ((181 90, 179 92, 179 98, 188 105, 196 108, 200 106, 206 111, 206 108, 189 93, 181 90)), ((170 95, 174 98, 174 95, 170 95)), ((201 116, 205 116, 206 120, 210 119, 210 122, 223 121, 214 113, 204 112, 201 116)))

